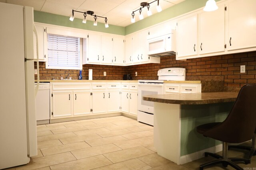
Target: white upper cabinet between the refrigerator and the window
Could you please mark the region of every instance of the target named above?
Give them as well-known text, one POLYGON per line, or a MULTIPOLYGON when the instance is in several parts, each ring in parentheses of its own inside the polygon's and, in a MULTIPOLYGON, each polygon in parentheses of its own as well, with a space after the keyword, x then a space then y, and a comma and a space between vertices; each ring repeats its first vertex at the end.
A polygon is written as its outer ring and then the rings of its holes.
MULTIPOLYGON (((35 23, 38 35, 38 57, 40 61, 46 62, 48 58, 48 45, 46 26, 35 23)), ((36 59, 36 35, 34 33, 34 59, 36 59)))

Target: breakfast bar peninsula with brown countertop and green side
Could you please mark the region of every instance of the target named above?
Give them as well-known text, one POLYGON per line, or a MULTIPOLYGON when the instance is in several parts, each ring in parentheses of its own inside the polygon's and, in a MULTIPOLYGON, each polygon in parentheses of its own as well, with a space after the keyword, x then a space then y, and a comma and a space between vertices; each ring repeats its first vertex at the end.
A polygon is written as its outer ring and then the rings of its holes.
POLYGON ((226 119, 238 92, 173 93, 144 96, 154 102, 154 147, 176 164, 219 152, 222 143, 196 132, 198 125, 226 119))

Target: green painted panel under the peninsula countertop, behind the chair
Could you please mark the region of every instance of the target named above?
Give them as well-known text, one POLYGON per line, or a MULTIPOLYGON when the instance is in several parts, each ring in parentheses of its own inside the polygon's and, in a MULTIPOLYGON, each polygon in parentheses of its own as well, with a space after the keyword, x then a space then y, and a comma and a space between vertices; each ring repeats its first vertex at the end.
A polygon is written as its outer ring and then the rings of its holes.
POLYGON ((181 105, 180 155, 184 156, 221 144, 204 137, 196 127, 204 123, 222 122, 232 109, 234 102, 204 105, 181 105))

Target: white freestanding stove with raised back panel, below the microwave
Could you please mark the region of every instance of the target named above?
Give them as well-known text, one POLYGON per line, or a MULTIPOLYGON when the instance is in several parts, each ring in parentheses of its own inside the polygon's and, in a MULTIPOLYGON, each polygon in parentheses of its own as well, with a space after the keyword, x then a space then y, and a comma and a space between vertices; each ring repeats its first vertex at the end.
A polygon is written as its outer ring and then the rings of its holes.
POLYGON ((137 120, 154 125, 154 102, 142 100, 143 96, 164 93, 164 80, 185 80, 185 68, 163 68, 158 70, 158 80, 138 80, 137 120))

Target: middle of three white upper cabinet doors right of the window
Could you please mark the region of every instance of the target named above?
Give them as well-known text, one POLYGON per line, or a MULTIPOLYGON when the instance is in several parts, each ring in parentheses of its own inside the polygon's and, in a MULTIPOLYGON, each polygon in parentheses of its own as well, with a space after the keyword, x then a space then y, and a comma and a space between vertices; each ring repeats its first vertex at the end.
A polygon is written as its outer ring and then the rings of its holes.
POLYGON ((113 37, 102 35, 101 36, 101 63, 112 63, 112 51, 113 51, 113 37))

